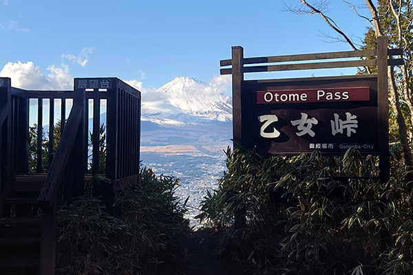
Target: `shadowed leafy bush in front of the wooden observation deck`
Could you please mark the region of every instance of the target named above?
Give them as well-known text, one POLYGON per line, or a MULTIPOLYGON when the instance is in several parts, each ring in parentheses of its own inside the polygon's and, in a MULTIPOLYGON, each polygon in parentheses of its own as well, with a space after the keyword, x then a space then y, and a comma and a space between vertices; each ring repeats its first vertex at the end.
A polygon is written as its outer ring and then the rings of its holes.
POLYGON ((147 168, 140 179, 119 195, 119 217, 107 214, 92 192, 59 212, 58 274, 157 274, 182 258, 189 222, 174 196, 178 179, 147 168))

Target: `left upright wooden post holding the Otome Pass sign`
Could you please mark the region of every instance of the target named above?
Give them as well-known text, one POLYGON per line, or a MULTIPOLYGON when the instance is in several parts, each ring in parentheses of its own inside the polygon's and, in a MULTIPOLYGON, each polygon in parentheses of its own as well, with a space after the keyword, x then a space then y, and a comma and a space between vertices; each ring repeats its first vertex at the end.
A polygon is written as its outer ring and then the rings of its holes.
POLYGON ((244 48, 232 47, 232 85, 233 85, 233 139, 242 140, 242 82, 244 81, 244 48))

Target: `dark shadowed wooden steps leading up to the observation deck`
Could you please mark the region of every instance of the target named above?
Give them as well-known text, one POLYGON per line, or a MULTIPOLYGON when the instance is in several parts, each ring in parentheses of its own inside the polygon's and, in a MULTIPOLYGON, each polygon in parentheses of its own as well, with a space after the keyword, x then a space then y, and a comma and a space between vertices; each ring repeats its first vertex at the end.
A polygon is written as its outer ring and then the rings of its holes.
MULTIPOLYGON (((44 174, 17 175, 0 206, 0 274, 39 274, 44 174)), ((4 195, 3 195, 4 196, 4 195)))

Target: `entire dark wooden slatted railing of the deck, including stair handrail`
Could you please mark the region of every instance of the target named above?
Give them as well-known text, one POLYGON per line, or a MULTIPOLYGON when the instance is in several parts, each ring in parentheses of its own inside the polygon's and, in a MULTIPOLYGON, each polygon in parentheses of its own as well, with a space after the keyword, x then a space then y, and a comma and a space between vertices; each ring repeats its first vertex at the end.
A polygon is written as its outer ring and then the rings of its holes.
POLYGON ((111 181, 97 190, 109 212, 118 191, 138 183, 140 91, 118 78, 75 78, 74 91, 26 91, 11 87, 10 78, 0 78, 0 140, 3 167, 0 200, 10 193, 10 188, 4 188, 11 181, 10 175, 30 170, 47 173, 37 200, 42 209, 41 274, 54 274, 56 210, 59 205, 83 194, 87 173, 111 181), (56 100, 61 106, 61 137, 54 151, 56 100), (66 102, 69 101, 73 103, 66 121, 66 102), (37 107, 34 112, 31 103, 37 107), (45 115, 48 116, 48 133, 43 130, 47 124, 43 122, 44 103, 50 110, 45 115), (34 129, 29 121, 36 115, 34 129), (105 126, 103 135, 100 133, 102 126, 105 126), (30 134, 36 136, 36 142, 32 140, 32 145, 36 144, 35 153, 29 150, 30 134), (47 163, 43 161, 45 154, 47 163), (35 167, 30 163, 34 155, 35 167))

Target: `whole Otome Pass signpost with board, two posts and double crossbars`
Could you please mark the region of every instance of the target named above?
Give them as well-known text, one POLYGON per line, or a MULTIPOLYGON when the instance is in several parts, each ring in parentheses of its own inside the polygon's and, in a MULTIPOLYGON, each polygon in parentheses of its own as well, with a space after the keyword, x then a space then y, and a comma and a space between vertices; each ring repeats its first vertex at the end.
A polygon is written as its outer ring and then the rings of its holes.
POLYGON ((403 63, 388 56, 401 54, 388 50, 385 36, 377 50, 351 52, 244 58, 244 49, 233 47, 232 58, 220 62, 221 74, 232 74, 233 139, 262 155, 343 155, 356 148, 379 156, 380 179, 387 181, 388 66, 403 63), (371 66, 377 74, 244 80, 251 72, 371 66))

